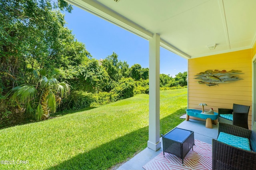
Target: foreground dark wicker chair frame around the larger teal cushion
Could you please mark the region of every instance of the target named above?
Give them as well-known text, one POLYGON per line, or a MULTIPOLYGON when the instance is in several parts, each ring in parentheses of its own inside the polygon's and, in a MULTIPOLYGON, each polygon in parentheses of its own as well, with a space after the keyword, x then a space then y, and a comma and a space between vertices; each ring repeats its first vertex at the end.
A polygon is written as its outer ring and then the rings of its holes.
POLYGON ((252 151, 232 147, 212 139, 212 170, 256 170, 256 122, 251 130, 219 123, 220 132, 248 138, 252 151))

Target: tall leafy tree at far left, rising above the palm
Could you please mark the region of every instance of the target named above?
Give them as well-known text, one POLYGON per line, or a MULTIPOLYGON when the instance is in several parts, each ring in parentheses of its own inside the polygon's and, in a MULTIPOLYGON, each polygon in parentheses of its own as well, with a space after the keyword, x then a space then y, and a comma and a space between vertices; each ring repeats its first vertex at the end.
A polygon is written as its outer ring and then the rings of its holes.
POLYGON ((0 1, 0 85, 2 95, 22 84, 27 70, 54 68, 58 51, 70 31, 60 10, 71 12, 63 0, 0 1))

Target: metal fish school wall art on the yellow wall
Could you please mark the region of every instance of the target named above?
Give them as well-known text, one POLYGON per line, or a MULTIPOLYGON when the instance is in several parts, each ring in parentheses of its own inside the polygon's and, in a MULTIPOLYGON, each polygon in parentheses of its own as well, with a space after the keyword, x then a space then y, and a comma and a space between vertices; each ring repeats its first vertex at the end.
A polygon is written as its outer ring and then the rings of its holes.
POLYGON ((237 74, 244 74, 240 70, 206 70, 205 72, 198 73, 195 79, 198 79, 199 84, 205 84, 206 86, 219 86, 219 83, 231 83, 238 80, 242 80, 239 78, 237 74))

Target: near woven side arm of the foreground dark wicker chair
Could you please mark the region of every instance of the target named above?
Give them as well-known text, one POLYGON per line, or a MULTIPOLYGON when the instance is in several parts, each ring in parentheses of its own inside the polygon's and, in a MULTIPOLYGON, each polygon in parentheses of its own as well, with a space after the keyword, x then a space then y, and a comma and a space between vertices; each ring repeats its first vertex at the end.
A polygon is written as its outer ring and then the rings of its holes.
POLYGON ((212 170, 255 170, 256 152, 212 139, 212 170))

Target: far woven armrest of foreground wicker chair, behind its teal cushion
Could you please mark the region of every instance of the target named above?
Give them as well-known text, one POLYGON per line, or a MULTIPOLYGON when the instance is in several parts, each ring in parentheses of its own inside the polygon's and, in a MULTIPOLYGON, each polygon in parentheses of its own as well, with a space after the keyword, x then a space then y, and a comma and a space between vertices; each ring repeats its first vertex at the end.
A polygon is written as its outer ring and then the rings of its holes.
POLYGON ((239 137, 245 137, 247 139, 250 139, 250 136, 252 134, 251 130, 245 129, 243 127, 219 122, 218 134, 220 134, 220 132, 228 133, 230 135, 235 135, 239 137))

